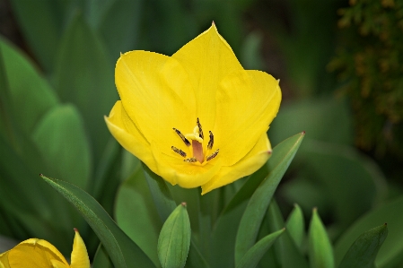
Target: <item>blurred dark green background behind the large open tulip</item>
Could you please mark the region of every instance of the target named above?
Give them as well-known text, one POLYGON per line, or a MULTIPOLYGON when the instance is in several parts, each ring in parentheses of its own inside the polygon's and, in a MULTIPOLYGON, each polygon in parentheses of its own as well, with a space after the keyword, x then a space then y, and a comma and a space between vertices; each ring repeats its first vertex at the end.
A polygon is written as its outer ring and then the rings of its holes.
MULTIPOLYGON (((285 214, 293 203, 306 215, 318 207, 337 241, 365 213, 399 204, 403 1, 0 0, 2 236, 45 238, 67 254, 75 227, 94 254, 91 229, 39 173, 114 215, 136 170, 103 120, 118 99, 119 53, 172 55, 213 21, 245 69, 280 79, 272 145, 307 133, 276 192, 285 214)), ((403 222, 403 212, 386 213, 403 222)))

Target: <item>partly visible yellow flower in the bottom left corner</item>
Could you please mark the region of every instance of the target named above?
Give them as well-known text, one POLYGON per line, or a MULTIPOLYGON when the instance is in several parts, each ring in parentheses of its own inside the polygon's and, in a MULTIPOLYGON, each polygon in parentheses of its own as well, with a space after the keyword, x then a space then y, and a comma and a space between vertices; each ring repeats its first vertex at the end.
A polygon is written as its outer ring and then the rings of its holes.
POLYGON ((31 238, 0 254, 0 268, 90 268, 83 238, 76 229, 71 264, 46 240, 31 238))

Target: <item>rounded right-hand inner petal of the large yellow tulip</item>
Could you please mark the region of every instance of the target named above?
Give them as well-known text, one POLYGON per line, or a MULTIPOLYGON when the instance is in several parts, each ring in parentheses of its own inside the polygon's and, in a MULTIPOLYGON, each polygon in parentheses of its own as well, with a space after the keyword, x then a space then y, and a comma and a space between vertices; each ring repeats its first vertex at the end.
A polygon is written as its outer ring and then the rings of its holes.
POLYGON ((215 147, 223 166, 241 160, 266 134, 280 107, 281 91, 273 76, 259 71, 227 75, 217 92, 215 147))

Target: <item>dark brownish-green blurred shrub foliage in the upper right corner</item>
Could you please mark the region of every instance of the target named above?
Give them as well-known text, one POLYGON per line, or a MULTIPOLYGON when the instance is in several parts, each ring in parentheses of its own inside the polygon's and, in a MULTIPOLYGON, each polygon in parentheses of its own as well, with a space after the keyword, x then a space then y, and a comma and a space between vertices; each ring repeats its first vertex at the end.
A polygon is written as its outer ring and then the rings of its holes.
POLYGON ((341 9, 340 46, 329 64, 355 110, 355 143, 403 157, 403 2, 350 1, 341 9))

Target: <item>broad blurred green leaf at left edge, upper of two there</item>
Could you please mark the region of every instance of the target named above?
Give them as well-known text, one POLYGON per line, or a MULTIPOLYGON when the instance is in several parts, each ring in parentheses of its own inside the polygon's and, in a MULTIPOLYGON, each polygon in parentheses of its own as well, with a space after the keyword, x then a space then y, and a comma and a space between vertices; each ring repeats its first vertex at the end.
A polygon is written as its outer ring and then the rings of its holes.
POLYGON ((1 90, 2 94, 7 94, 7 103, 2 106, 13 115, 13 124, 24 134, 31 134, 40 117, 57 106, 57 96, 21 51, 1 38, 0 50, 5 72, 2 82, 7 82, 7 90, 5 85, 1 90))

